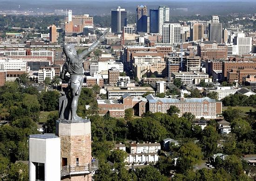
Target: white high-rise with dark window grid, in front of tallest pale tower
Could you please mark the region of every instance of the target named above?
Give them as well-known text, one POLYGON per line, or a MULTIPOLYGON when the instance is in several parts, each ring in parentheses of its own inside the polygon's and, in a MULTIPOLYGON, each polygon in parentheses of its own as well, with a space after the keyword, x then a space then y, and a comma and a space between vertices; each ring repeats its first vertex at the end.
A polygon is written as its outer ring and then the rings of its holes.
POLYGON ((181 43, 181 25, 176 23, 163 24, 162 42, 170 44, 181 43))

